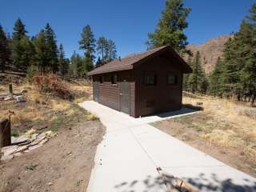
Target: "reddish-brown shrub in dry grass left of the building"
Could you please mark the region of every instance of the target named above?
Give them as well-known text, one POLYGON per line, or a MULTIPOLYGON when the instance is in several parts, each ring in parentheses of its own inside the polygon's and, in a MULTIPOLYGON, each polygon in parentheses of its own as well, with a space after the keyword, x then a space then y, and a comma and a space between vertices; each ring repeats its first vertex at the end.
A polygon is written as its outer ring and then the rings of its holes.
POLYGON ((54 74, 34 76, 32 82, 38 87, 39 91, 53 94, 54 97, 57 96, 58 98, 69 100, 74 98, 66 83, 54 74))

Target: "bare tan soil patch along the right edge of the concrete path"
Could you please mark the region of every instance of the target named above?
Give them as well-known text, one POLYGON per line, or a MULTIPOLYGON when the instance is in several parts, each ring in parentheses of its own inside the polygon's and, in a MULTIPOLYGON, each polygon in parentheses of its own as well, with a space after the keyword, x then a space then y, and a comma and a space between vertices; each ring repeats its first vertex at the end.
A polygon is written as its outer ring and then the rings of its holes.
POLYGON ((245 146, 242 142, 241 146, 222 146, 218 142, 204 137, 204 135, 212 133, 213 130, 231 129, 232 125, 215 120, 210 114, 200 112, 199 114, 155 122, 153 126, 206 154, 210 154, 227 165, 256 177, 256 158, 245 153, 245 146))

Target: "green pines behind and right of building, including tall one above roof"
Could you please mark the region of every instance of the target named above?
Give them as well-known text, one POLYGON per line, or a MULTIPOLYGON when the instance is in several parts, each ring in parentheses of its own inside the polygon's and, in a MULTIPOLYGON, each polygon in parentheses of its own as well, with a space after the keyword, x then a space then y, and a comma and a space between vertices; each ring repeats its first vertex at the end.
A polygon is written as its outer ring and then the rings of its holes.
POLYGON ((193 93, 211 94, 222 98, 236 98, 238 101, 254 103, 256 97, 256 3, 251 6, 249 15, 242 20, 240 29, 226 42, 222 58, 212 74, 202 70, 201 56, 194 56, 188 45, 184 29, 190 7, 182 0, 166 0, 166 8, 153 33, 148 34, 149 48, 171 46, 182 57, 189 54, 187 63, 193 73, 184 77, 184 89, 193 93))

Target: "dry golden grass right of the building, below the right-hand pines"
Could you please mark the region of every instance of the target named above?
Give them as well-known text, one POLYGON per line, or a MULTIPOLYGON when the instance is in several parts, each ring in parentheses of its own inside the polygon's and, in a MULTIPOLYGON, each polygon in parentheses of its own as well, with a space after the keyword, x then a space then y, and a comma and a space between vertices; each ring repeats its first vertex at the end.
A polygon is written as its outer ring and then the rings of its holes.
POLYGON ((204 111, 202 114, 210 115, 213 124, 212 130, 202 132, 199 134, 200 137, 209 142, 217 143, 218 146, 242 147, 246 155, 256 157, 255 108, 226 99, 203 96, 198 98, 183 97, 185 104, 196 105, 197 102, 203 103, 204 111))

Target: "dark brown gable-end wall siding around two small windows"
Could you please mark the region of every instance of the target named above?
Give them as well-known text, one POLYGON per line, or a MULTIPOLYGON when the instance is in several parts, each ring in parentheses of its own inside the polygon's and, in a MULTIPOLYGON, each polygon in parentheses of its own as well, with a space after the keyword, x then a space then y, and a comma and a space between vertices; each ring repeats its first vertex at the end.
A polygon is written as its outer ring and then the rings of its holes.
POLYGON ((178 110, 182 106, 182 72, 164 54, 138 66, 136 74, 136 117, 178 110), (167 85, 167 74, 175 74, 178 82, 167 85), (145 75, 155 74, 155 86, 146 86, 145 75))

